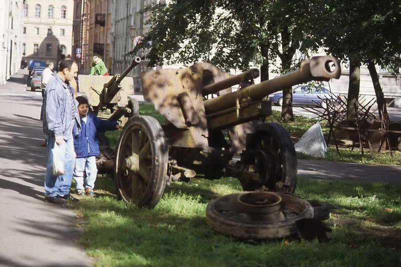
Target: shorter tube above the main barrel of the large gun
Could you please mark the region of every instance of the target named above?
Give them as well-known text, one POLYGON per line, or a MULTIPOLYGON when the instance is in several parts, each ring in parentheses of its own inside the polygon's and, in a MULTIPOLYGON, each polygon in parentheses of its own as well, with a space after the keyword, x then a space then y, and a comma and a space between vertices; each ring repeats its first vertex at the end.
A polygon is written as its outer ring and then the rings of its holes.
POLYGON ((202 87, 202 95, 208 95, 211 93, 217 93, 220 90, 226 89, 233 85, 239 84, 244 80, 255 79, 259 77, 259 69, 251 68, 245 72, 242 72, 238 75, 231 76, 230 78, 218 81, 216 83, 212 83, 202 87))

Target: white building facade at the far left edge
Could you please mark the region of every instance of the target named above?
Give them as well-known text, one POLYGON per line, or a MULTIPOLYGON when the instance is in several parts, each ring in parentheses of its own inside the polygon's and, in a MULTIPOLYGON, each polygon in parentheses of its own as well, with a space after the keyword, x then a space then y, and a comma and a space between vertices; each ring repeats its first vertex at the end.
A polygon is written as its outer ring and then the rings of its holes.
POLYGON ((23 0, 0 1, 0 85, 21 66, 23 0))

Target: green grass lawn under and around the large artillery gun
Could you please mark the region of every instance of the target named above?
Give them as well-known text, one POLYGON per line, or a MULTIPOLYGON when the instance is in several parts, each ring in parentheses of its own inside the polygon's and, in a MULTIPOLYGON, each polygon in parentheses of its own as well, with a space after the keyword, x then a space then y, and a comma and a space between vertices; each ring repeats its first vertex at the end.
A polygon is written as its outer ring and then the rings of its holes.
MULTIPOLYGON (((140 110, 154 112, 148 104, 140 110)), ((284 126, 301 136, 314 121, 297 119, 284 126)), ((115 144, 119 132, 108 136, 115 144)), ((363 160, 353 153, 344 153, 341 160, 363 160)), ((330 159, 338 160, 335 155, 330 159)), ((369 160, 388 163, 388 158, 369 160)), ((215 232, 206 224, 207 204, 240 191, 236 178, 194 178, 167 186, 154 209, 138 208, 117 198, 110 175, 98 175, 96 196, 70 205, 79 217, 77 227, 84 229, 79 241, 97 266, 401 265, 401 186, 299 178, 295 193, 332 211, 326 222, 333 239, 325 243, 294 238, 244 241, 215 232)))

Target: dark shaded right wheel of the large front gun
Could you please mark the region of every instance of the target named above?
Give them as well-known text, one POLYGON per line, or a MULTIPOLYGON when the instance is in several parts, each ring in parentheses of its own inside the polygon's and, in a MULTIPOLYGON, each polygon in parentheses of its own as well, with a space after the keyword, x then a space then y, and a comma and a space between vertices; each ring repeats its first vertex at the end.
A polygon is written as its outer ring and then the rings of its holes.
POLYGON ((260 181, 245 180, 244 190, 266 186, 271 191, 294 192, 297 181, 297 155, 286 129, 277 123, 260 123, 247 141, 246 156, 255 164, 260 181))

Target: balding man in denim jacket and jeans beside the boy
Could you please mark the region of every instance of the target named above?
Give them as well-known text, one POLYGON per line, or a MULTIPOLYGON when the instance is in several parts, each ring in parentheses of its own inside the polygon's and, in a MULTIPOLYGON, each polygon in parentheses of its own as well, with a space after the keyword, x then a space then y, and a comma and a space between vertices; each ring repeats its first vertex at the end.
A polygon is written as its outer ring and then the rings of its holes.
POLYGON ((49 160, 45 175, 45 199, 64 204, 66 199, 78 200, 70 194, 75 163, 73 128, 77 123, 80 130, 78 103, 73 97, 69 81, 77 75, 78 65, 73 60, 63 59, 59 71, 47 83, 45 90, 45 111, 43 131, 47 135, 49 160), (64 174, 53 173, 53 148, 59 145, 65 155, 64 174))

